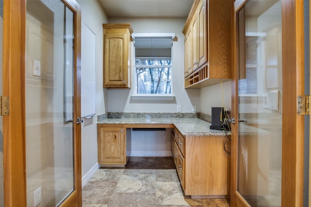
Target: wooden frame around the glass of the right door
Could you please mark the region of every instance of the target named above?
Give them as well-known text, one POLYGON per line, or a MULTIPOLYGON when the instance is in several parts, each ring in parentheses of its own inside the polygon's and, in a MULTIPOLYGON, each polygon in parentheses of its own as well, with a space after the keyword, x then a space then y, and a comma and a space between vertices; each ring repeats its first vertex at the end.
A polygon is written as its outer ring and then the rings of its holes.
MULTIPOLYGON (((246 0, 234 3, 232 35, 232 116, 238 118, 237 12, 246 0)), ((297 96, 304 95, 303 0, 282 0, 282 189, 281 206, 303 206, 304 116, 297 114, 297 96)), ((237 191, 238 124, 232 126, 231 206, 249 206, 237 191)))

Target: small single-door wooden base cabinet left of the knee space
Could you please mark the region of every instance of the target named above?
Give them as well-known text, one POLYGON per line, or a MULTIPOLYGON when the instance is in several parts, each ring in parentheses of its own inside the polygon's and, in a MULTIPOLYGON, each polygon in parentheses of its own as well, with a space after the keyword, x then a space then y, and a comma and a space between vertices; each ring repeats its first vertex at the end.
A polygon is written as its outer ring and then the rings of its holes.
POLYGON ((131 154, 131 132, 123 125, 100 124, 98 133, 98 162, 100 165, 125 165, 131 154))

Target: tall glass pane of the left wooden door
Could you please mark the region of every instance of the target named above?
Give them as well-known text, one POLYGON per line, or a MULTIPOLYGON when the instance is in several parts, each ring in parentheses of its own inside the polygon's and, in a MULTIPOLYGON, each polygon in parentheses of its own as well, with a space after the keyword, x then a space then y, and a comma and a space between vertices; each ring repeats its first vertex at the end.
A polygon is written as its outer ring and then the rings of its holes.
POLYGON ((74 189, 74 14, 60 0, 27 1, 27 206, 58 206, 74 189))

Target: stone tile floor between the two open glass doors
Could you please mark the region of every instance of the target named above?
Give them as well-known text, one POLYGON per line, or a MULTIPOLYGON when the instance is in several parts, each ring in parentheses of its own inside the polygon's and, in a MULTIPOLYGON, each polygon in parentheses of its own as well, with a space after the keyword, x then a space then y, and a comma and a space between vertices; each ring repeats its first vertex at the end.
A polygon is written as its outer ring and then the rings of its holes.
POLYGON ((131 157, 124 168, 99 169, 82 190, 82 206, 229 207, 226 199, 185 196, 172 163, 172 157, 131 157))

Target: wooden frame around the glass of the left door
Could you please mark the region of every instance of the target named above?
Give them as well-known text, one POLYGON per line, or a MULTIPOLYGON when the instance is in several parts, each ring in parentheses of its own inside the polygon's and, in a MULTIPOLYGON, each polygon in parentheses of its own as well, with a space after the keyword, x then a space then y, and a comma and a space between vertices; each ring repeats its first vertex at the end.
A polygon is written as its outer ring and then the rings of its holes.
MULTIPOLYGON (((62 0, 75 16, 74 120, 81 117, 81 8, 75 0, 62 0)), ((4 206, 26 207, 25 62, 26 0, 3 3, 3 96, 10 98, 10 114, 3 116, 4 206)), ((74 191, 64 207, 82 206, 81 124, 74 124, 74 191)))

